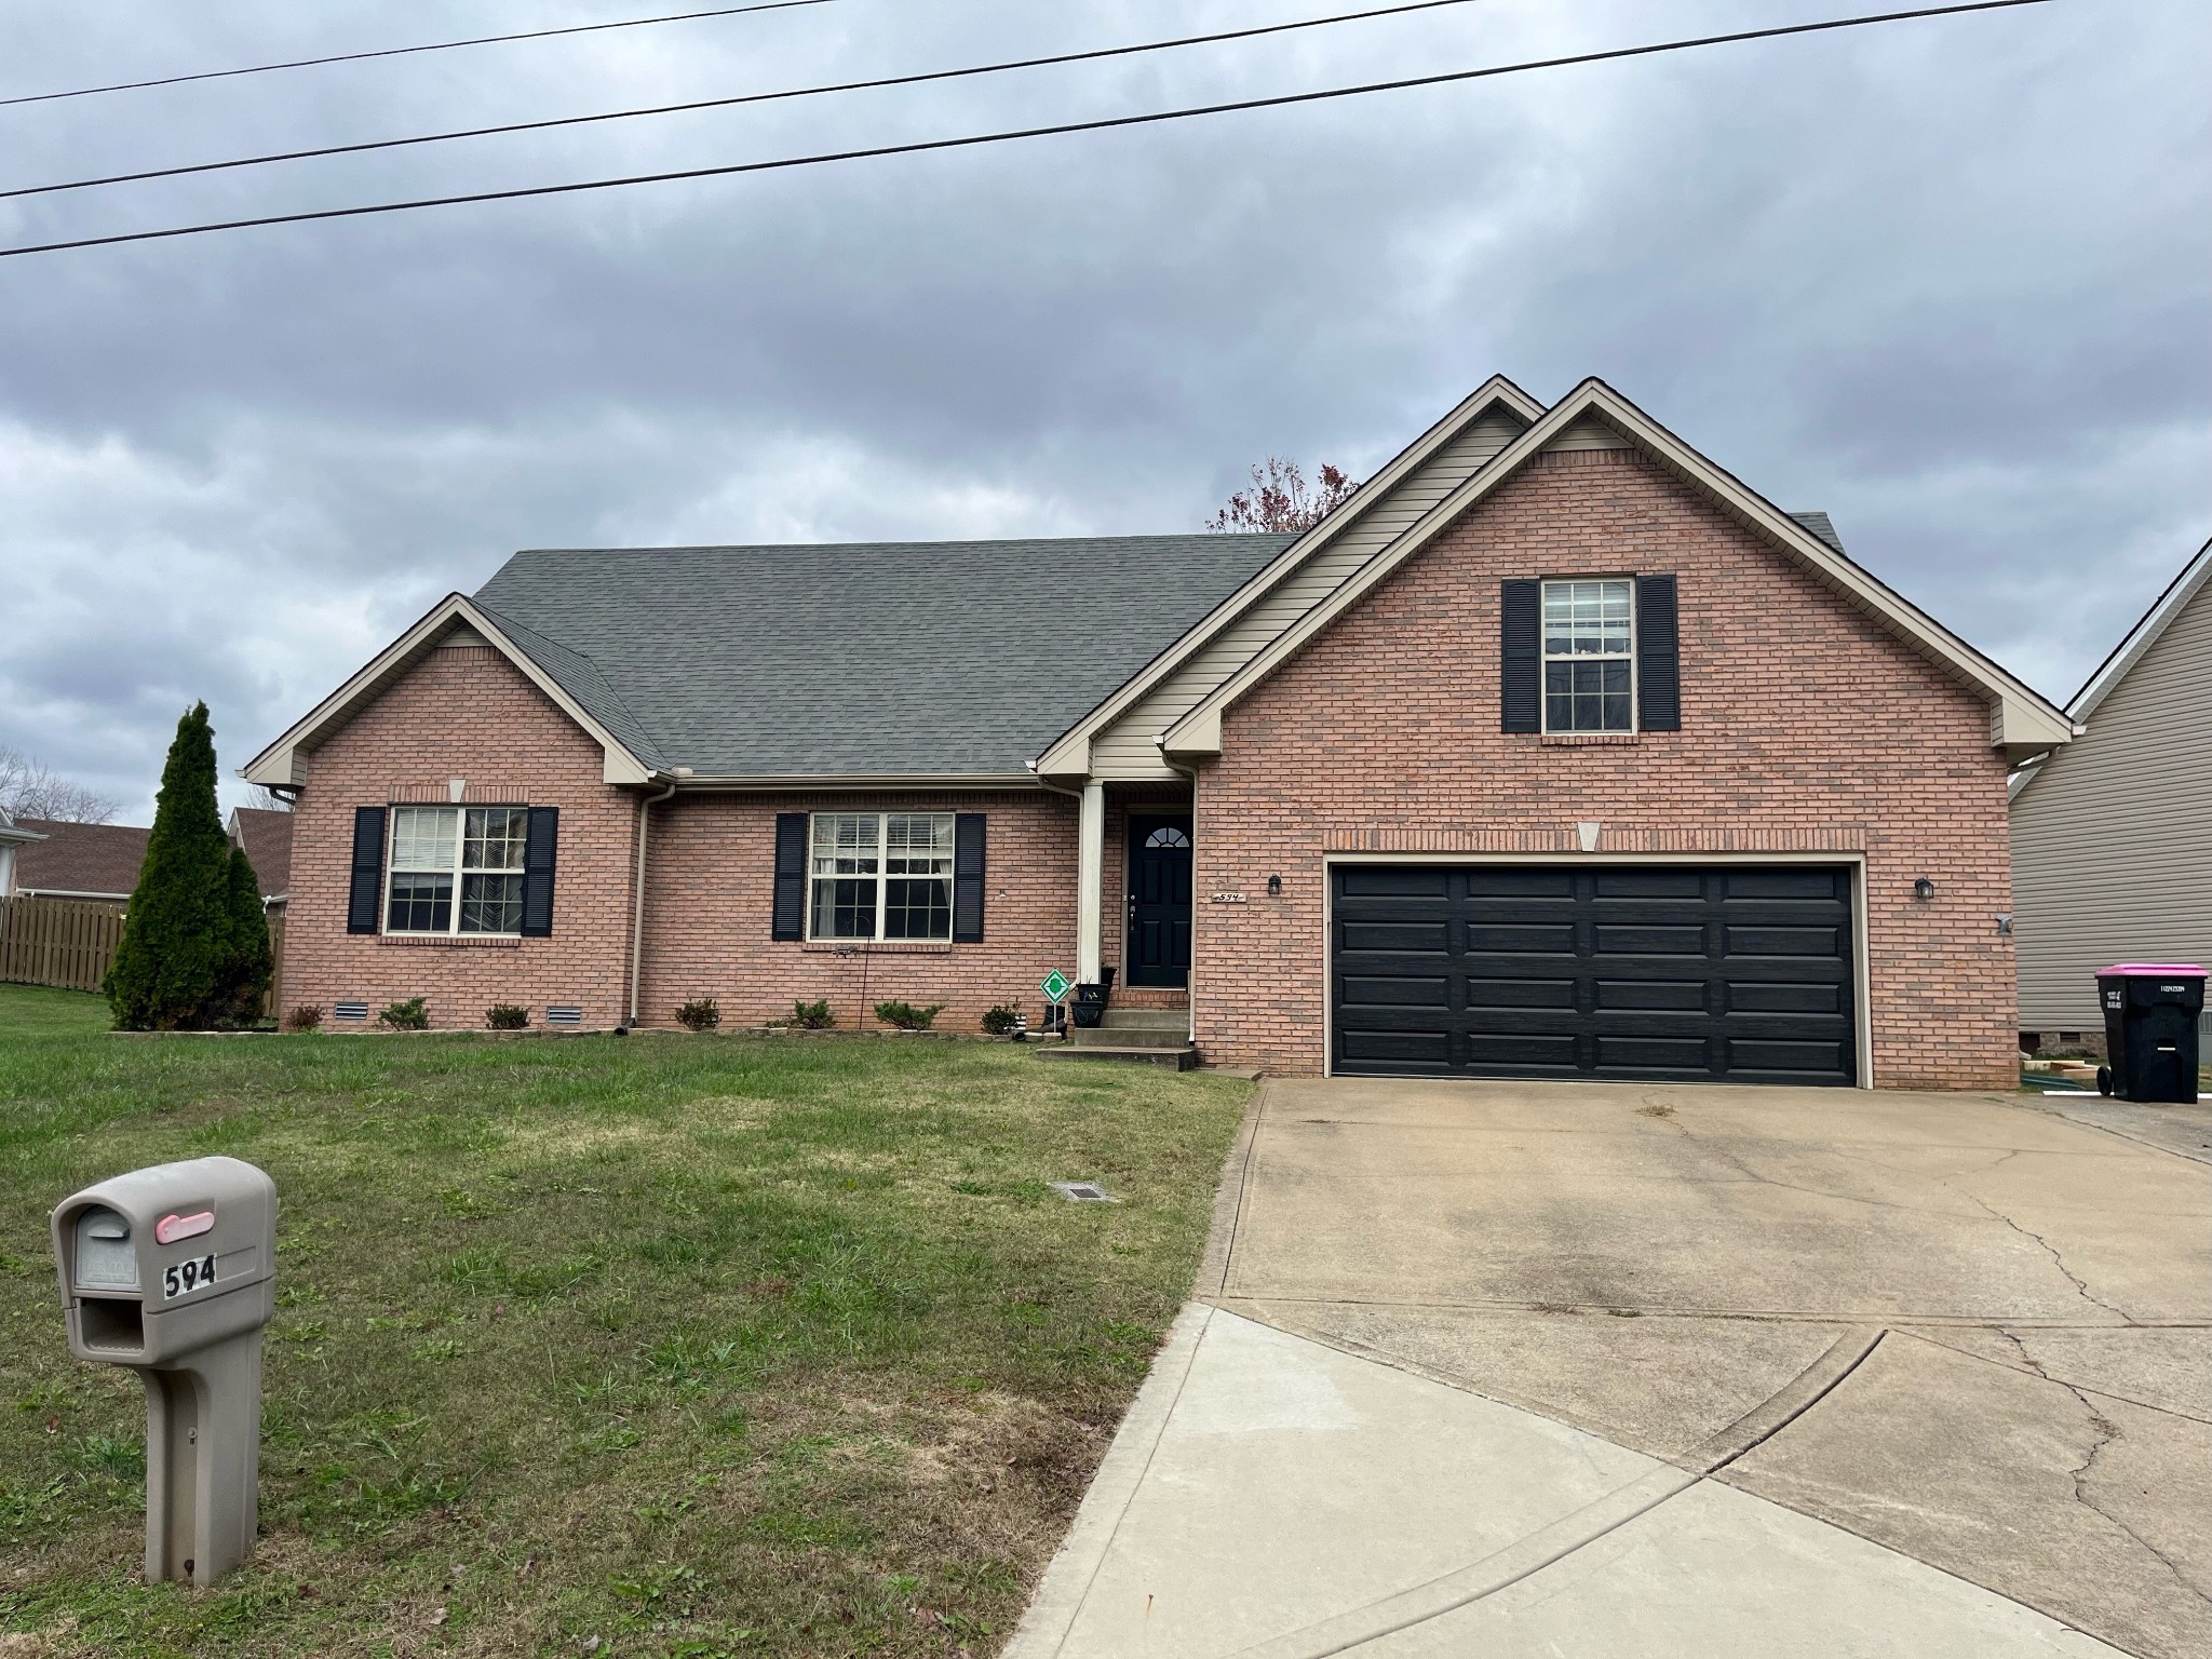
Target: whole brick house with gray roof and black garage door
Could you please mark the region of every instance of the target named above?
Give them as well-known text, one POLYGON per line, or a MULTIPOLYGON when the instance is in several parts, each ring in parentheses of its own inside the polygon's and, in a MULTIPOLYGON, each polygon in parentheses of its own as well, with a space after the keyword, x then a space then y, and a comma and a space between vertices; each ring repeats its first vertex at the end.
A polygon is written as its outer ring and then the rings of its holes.
POLYGON ((518 553, 246 776, 341 1020, 1066 969, 1276 1073, 1989 1088, 2070 734, 1825 515, 1493 378, 1303 535, 518 553))

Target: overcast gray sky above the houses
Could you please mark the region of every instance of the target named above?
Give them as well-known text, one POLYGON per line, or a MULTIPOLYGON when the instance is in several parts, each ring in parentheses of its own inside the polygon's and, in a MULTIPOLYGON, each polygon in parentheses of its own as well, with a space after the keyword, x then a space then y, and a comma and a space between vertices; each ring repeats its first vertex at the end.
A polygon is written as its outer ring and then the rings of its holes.
MULTIPOLYGON (((0 97, 661 9, 684 4, 0 0, 0 97)), ((18 104, 0 186, 1349 9, 834 0, 18 104)), ((1874 9, 1471 0, 0 201, 0 246, 1874 9)), ((1854 557, 2064 699, 2212 533, 2208 60, 2201 0, 2057 0, 0 259, 0 743, 144 823, 195 697, 232 770, 518 546, 1197 529, 1252 460, 1365 473, 1500 369, 1546 400, 1604 376, 1783 507, 1834 513, 1854 557)), ((1077 588, 1009 571, 1022 602, 1077 588)))

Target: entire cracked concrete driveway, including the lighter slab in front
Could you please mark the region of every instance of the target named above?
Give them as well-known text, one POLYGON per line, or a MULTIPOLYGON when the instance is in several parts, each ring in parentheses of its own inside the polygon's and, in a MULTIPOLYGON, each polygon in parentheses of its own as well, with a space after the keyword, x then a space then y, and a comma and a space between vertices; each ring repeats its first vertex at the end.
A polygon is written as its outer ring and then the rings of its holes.
POLYGON ((2212 1652, 2212 1113, 2093 1110, 1267 1084, 1009 1655, 2212 1652))

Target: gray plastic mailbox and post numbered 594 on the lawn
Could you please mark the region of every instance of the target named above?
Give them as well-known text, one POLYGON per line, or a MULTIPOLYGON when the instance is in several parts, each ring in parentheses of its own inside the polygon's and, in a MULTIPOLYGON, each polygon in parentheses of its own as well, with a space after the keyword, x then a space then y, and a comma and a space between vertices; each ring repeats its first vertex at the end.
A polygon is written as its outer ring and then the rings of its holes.
POLYGON ((53 1210, 69 1352, 146 1383, 146 1579, 212 1584, 254 1546, 276 1183, 234 1157, 117 1175, 53 1210))

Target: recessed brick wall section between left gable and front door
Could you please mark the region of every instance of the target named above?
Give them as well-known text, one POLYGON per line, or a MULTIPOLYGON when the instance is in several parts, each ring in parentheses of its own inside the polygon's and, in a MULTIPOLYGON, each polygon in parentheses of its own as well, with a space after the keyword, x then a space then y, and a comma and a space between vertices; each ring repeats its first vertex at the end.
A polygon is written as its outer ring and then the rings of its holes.
POLYGON ((741 1026, 787 1020, 792 1002, 821 998, 845 1031, 874 1026, 876 1002, 942 1002, 940 1031, 975 1031, 995 1002, 1042 1024, 1037 984, 1055 967, 1075 971, 1066 794, 692 794, 653 810, 639 1024, 675 1024, 677 1004, 692 998, 714 998, 723 1024, 741 1026), (779 812, 982 812, 982 942, 883 942, 841 956, 834 942, 772 938, 779 812))

